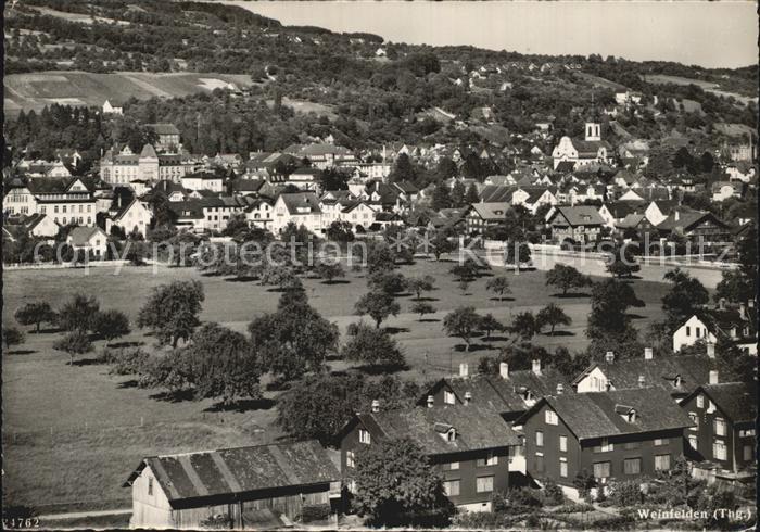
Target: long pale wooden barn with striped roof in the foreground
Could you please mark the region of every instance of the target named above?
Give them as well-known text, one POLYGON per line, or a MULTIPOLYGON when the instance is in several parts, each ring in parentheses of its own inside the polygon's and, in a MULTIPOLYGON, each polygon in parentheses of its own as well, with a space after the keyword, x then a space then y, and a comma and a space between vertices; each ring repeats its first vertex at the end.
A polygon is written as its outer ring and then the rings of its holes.
POLYGON ((270 530, 304 508, 340 497, 340 473, 316 441, 145 457, 123 484, 132 494, 132 529, 270 530), (282 516, 282 517, 280 517, 282 516))

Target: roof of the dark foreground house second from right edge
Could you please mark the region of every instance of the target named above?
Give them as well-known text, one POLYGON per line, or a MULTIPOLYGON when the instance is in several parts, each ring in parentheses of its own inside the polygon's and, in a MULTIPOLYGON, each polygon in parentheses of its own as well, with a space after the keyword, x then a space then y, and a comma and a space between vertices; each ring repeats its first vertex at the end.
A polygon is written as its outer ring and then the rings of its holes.
POLYGON ((579 440, 694 426, 668 392, 659 388, 549 395, 536 403, 517 422, 524 422, 544 405, 556 411, 579 440), (633 421, 624 416, 631 409, 636 411, 633 421))

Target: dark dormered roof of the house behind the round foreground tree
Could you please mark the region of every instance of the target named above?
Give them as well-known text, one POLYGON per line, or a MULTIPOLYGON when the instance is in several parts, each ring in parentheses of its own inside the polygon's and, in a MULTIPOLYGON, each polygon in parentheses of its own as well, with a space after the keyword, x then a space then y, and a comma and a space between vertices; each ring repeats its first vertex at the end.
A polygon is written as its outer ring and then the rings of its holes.
POLYGON ((410 438, 429 456, 519 445, 517 434, 496 410, 477 404, 381 410, 359 414, 357 419, 383 438, 410 438), (435 430, 436 423, 453 427, 456 439, 449 442, 442 438, 435 430))

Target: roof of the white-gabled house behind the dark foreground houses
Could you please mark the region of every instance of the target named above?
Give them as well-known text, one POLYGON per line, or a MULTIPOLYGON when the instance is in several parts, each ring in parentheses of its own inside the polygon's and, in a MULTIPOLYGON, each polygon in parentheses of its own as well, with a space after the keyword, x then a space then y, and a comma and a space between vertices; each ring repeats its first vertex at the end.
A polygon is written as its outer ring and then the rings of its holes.
POLYGON ((573 380, 578 383, 594 368, 599 368, 615 390, 637 389, 644 377, 647 387, 657 387, 671 394, 685 394, 709 381, 711 360, 706 356, 661 356, 651 359, 629 358, 592 364, 573 380), (675 378, 681 377, 680 385, 675 378))

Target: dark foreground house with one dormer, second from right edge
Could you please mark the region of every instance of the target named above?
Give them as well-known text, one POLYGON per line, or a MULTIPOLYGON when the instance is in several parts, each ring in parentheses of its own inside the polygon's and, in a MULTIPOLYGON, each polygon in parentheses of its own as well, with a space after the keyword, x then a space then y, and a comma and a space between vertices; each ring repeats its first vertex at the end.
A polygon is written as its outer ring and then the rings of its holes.
POLYGON ((660 388, 561 393, 539 400, 517 421, 528 473, 572 489, 579 472, 599 484, 655 477, 683 455, 686 413, 660 388))

